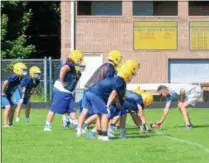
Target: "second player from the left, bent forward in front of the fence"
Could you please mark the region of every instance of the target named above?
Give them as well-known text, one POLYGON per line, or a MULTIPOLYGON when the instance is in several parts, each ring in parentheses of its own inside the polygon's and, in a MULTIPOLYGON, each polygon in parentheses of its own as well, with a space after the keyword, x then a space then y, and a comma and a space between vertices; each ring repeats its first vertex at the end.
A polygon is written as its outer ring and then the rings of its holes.
POLYGON ((30 117, 30 97, 33 94, 34 89, 39 85, 41 77, 41 70, 37 66, 32 66, 29 70, 29 75, 25 76, 20 83, 19 88, 14 93, 14 98, 16 100, 16 122, 20 121, 20 111, 22 105, 25 108, 25 121, 29 123, 30 117))

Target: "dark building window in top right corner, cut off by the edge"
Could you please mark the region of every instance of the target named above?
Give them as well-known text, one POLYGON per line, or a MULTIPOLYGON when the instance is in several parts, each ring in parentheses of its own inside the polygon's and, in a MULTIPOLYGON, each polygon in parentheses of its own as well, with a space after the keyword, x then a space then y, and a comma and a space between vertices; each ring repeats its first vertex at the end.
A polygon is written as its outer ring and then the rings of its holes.
POLYGON ((209 2, 208 1, 190 1, 189 16, 208 16, 209 2))

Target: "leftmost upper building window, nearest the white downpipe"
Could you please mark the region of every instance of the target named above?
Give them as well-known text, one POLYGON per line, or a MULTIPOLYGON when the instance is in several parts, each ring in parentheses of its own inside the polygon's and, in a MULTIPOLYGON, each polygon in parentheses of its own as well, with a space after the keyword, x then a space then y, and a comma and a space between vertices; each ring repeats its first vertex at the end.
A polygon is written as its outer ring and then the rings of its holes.
POLYGON ((78 1, 77 15, 122 15, 122 1, 78 1))

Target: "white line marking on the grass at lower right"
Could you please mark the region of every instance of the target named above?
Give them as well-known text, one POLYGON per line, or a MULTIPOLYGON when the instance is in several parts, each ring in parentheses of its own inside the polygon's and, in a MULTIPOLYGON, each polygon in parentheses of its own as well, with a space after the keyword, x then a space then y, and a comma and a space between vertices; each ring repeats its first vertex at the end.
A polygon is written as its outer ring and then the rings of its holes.
MULTIPOLYGON (((126 123, 128 125, 132 125, 134 126, 133 124, 129 123, 126 121, 126 123)), ((192 145, 192 146, 196 146, 198 147, 199 149, 209 153, 209 149, 208 148, 205 148, 202 144, 199 144, 199 143, 196 143, 196 142, 191 142, 191 141, 188 141, 188 140, 184 140, 184 139, 180 139, 180 138, 177 138, 177 137, 174 137, 174 136, 168 136, 162 132, 159 132, 159 131, 155 131, 154 132, 155 134, 158 134, 160 136, 162 136, 163 138, 166 138, 166 139, 169 139, 169 140, 173 140, 173 141, 177 141, 177 142, 181 142, 181 143, 184 143, 184 144, 187 144, 187 145, 192 145)))

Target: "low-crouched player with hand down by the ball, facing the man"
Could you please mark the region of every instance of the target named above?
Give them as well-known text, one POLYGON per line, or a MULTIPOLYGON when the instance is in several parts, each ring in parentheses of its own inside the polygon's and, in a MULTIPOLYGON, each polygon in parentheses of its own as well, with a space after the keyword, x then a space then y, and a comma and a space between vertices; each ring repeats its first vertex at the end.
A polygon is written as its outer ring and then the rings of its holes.
MULTIPOLYGON (((126 91, 126 99, 121 109, 120 117, 120 138, 126 136, 126 118, 127 113, 135 112, 138 116, 138 124, 141 122, 144 131, 149 131, 144 115, 145 107, 153 104, 153 95, 151 92, 141 92, 140 89, 126 91)), ((136 122, 135 122, 136 123, 136 122)))

